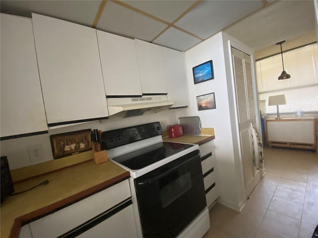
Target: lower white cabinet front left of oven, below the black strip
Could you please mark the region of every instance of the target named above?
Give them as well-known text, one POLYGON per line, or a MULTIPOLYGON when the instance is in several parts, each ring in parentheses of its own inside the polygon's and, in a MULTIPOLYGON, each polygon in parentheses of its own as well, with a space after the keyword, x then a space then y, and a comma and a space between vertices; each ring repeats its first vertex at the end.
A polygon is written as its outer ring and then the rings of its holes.
POLYGON ((137 238, 133 205, 124 208, 78 236, 78 238, 94 237, 137 238))

